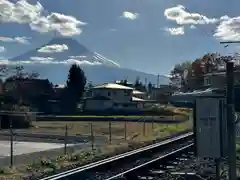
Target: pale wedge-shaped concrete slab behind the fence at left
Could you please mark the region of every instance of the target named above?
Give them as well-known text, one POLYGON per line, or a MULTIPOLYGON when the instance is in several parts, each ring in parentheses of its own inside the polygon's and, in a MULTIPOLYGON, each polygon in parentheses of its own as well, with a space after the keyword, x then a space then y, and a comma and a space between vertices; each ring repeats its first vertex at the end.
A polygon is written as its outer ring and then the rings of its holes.
MULTIPOLYGON (((73 144, 68 144, 73 146, 73 144)), ((13 154, 21 155, 33 152, 46 151, 51 149, 63 148, 64 144, 57 143, 42 143, 42 142, 14 142, 13 143, 13 154)), ((0 141, 0 158, 10 156, 10 142, 0 141)))

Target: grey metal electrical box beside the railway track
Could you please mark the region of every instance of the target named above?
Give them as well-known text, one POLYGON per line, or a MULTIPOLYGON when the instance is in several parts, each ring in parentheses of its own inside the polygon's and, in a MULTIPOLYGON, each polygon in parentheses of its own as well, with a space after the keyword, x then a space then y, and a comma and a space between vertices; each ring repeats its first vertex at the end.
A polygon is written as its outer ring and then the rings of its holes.
POLYGON ((195 100, 194 134, 198 157, 221 158, 227 155, 225 98, 201 96, 195 100))

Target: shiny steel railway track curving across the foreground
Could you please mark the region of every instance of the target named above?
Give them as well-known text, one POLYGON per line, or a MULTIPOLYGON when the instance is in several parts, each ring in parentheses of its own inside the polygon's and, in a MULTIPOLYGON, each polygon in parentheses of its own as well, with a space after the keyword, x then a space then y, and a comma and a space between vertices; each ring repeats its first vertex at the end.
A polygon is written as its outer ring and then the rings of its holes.
MULTIPOLYGON (((151 169, 150 167, 152 167, 152 165, 162 164, 162 162, 179 157, 182 154, 192 158, 193 147, 193 133, 187 133, 160 143, 98 161, 96 163, 49 176, 41 180, 146 179, 146 177, 150 177, 149 169, 151 169), (142 174, 143 172, 146 174, 142 176, 137 175, 142 174)), ((179 163, 180 162, 184 162, 184 158, 180 159, 179 163)), ((164 166, 164 168, 166 170, 169 168, 171 169, 171 166, 164 166)), ((163 174, 162 169, 164 168, 162 167, 161 171, 158 173, 156 173, 156 171, 155 173, 153 173, 154 171, 151 171, 151 179, 153 179, 156 175, 160 176, 160 174, 163 174)))

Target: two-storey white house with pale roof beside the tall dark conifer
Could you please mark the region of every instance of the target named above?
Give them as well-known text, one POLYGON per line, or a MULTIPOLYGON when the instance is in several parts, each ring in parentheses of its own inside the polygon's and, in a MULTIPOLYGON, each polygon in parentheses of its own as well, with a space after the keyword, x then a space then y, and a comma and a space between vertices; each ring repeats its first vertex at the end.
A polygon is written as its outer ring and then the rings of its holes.
POLYGON ((103 111, 138 110, 143 108, 144 100, 134 97, 134 89, 115 83, 106 83, 93 87, 89 91, 90 97, 84 100, 84 110, 103 111))

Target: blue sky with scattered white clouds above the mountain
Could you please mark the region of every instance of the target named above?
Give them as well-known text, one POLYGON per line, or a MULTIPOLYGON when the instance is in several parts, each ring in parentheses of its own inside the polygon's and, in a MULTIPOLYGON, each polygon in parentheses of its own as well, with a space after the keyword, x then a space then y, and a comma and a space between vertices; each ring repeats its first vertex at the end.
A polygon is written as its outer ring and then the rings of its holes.
POLYGON ((122 67, 159 74, 168 74, 174 64, 207 52, 240 49, 219 44, 220 40, 240 40, 239 0, 16 2, 0 2, 1 59, 48 42, 54 32, 76 38, 122 67), (47 23, 52 28, 45 27, 47 23))

